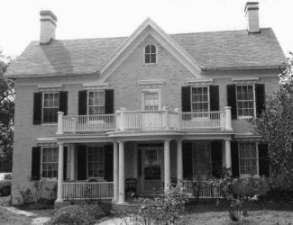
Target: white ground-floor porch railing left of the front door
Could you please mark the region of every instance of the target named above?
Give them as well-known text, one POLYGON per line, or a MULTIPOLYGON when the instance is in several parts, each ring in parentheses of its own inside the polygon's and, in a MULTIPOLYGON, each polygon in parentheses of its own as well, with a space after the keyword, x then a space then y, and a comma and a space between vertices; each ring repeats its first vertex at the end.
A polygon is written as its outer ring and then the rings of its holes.
POLYGON ((112 199, 114 196, 113 182, 68 182, 62 184, 63 199, 112 199))

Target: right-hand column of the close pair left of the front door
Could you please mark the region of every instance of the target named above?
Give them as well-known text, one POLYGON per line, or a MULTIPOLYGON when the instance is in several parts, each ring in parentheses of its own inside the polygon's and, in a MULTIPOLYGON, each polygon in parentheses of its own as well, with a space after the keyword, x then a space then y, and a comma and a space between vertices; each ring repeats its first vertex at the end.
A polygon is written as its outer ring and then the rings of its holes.
POLYGON ((125 175, 124 175, 124 141, 119 141, 119 194, 118 202, 125 202, 125 175))

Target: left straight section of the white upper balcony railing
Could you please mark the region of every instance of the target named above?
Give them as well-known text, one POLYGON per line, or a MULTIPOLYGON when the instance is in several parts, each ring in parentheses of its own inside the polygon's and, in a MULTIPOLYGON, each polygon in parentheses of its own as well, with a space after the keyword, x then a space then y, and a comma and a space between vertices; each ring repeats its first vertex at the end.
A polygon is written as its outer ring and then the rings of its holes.
POLYGON ((98 115, 65 115, 63 116, 63 131, 96 131, 115 130, 115 114, 98 115))

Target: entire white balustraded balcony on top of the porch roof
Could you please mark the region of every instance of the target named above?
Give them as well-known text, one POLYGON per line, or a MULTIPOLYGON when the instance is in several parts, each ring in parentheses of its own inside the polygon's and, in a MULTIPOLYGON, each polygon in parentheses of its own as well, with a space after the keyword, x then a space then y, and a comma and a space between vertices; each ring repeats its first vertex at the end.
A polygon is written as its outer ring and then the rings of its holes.
POLYGON ((127 111, 114 114, 63 115, 59 112, 58 132, 81 133, 123 130, 232 130, 231 107, 217 112, 127 111))

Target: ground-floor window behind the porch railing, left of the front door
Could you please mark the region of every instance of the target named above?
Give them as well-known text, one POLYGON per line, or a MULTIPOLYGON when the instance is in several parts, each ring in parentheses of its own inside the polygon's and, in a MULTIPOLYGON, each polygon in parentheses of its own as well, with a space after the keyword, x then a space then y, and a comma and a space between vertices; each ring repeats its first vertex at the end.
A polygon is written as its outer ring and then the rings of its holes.
POLYGON ((87 148, 87 176, 104 177, 104 148, 87 148))

